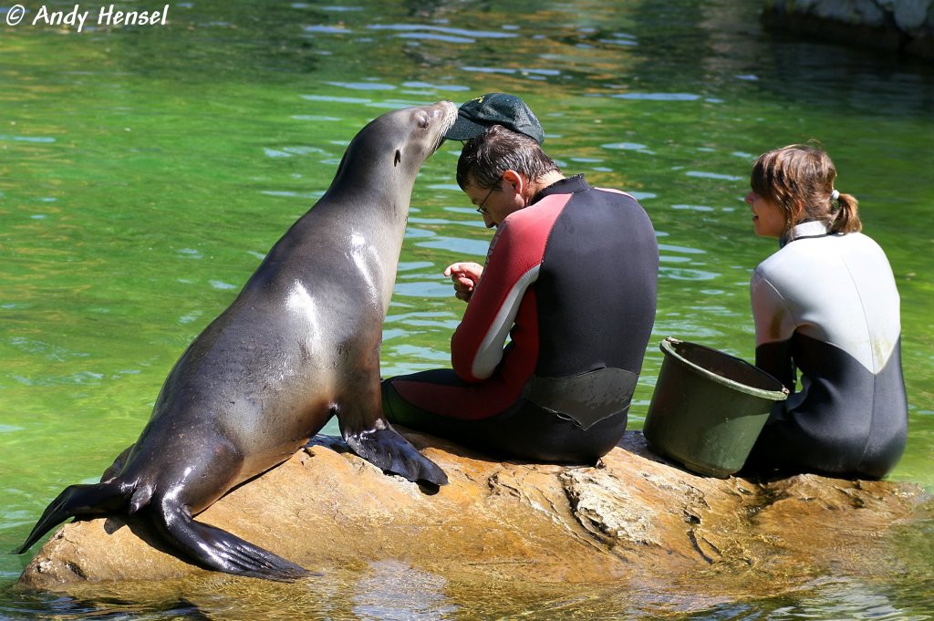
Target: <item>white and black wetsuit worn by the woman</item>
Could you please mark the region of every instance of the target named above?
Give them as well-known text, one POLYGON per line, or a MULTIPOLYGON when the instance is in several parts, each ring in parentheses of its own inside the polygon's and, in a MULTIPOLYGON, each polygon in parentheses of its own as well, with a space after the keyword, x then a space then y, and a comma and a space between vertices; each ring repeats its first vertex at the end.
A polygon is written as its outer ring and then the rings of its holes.
POLYGON ((908 430, 892 268, 862 233, 811 221, 793 239, 752 277, 756 364, 793 394, 775 406, 750 463, 882 477, 908 430))

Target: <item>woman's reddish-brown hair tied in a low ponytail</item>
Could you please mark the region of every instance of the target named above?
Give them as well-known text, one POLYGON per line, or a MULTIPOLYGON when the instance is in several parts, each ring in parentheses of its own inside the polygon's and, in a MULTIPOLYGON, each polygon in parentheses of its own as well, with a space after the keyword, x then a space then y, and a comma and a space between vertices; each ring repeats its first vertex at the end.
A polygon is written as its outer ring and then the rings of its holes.
POLYGON ((856 233, 859 203, 852 194, 833 198, 837 169, 824 149, 789 145, 763 153, 753 164, 749 185, 785 212, 785 234, 802 220, 821 220, 831 233, 856 233))

